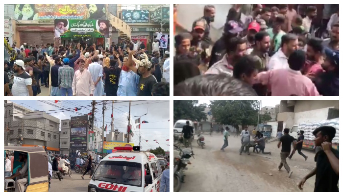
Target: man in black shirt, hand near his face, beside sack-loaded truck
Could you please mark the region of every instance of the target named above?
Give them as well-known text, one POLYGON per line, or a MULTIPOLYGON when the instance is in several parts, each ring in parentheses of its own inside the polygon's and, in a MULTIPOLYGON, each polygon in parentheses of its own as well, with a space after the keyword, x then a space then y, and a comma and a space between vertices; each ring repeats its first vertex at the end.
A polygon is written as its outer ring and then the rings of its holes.
POLYGON ((314 192, 339 192, 340 171, 339 152, 331 147, 336 129, 332 126, 320 126, 313 131, 316 147, 322 147, 315 156, 316 168, 307 174, 298 184, 300 190, 307 179, 316 175, 314 192))

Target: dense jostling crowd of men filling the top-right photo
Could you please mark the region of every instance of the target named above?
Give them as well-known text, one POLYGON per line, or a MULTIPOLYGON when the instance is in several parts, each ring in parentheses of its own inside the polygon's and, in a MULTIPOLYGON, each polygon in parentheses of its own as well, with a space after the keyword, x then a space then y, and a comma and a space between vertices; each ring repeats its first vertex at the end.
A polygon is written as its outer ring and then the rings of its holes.
POLYGON ((339 5, 321 5, 253 4, 243 21, 233 4, 215 42, 206 5, 175 36, 174 96, 339 96, 339 5))

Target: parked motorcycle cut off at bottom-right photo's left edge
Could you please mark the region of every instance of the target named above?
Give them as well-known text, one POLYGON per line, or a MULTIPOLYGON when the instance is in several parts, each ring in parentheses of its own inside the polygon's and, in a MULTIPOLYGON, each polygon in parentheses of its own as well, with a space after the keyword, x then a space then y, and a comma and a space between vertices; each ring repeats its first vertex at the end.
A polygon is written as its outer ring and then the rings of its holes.
POLYGON ((179 155, 174 158, 174 192, 179 192, 181 183, 184 182, 183 171, 187 170, 187 165, 191 164, 189 158, 194 158, 193 150, 185 148, 181 149, 174 145, 180 151, 179 155))

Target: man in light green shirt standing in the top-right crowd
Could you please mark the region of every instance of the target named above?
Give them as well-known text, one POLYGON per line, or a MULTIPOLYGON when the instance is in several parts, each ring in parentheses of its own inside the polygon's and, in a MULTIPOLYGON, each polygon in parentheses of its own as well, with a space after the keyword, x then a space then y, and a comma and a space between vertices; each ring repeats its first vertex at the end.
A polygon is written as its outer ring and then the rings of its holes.
POLYGON ((273 27, 267 29, 267 33, 270 36, 270 51, 276 52, 281 45, 281 38, 286 33, 281 30, 281 26, 285 23, 285 17, 278 15, 273 21, 273 27))

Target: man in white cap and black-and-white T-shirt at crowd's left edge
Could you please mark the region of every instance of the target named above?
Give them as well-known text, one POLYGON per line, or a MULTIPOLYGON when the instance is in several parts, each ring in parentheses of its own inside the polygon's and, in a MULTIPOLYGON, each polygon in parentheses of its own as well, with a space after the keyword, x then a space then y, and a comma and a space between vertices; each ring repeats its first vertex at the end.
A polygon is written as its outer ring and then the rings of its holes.
POLYGON ((23 60, 14 62, 13 96, 33 96, 31 75, 25 72, 23 60))

